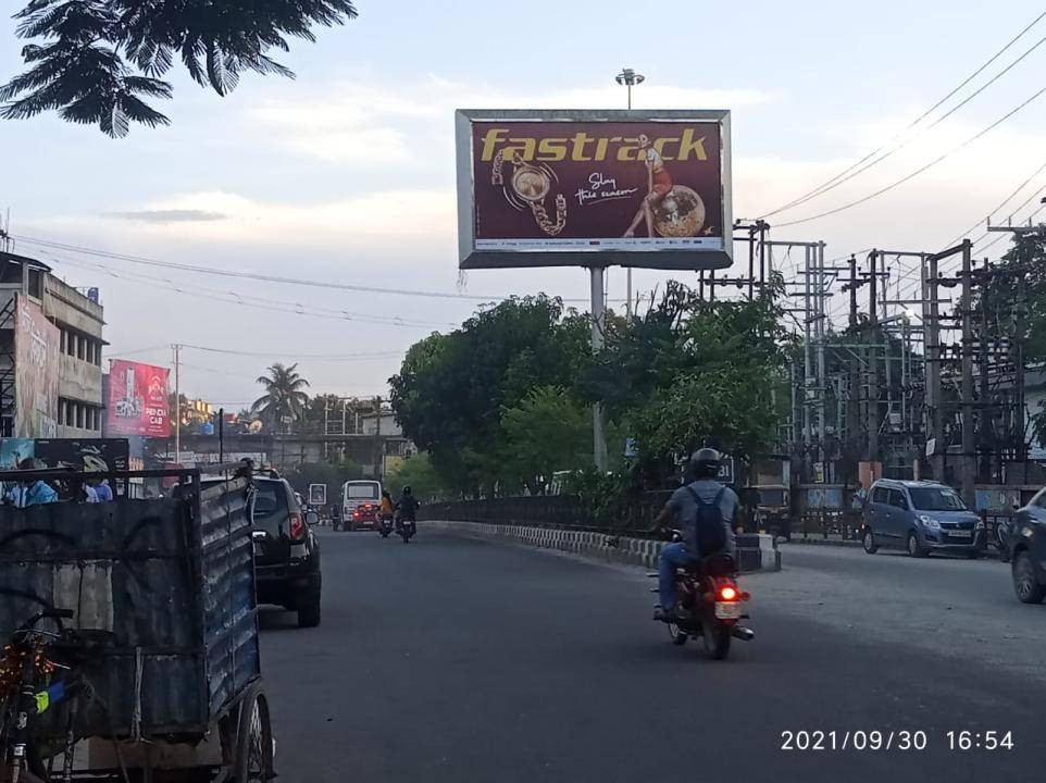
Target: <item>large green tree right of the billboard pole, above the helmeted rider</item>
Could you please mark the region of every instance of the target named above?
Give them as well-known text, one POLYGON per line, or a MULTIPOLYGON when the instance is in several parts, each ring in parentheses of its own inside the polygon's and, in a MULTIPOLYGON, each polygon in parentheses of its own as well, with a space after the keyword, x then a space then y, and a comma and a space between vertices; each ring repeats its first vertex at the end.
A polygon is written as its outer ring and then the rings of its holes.
POLYGON ((771 389, 793 340, 782 326, 781 281, 748 301, 708 301, 670 283, 660 301, 608 333, 583 387, 637 439, 649 485, 661 485, 701 445, 745 459, 774 442, 771 389))

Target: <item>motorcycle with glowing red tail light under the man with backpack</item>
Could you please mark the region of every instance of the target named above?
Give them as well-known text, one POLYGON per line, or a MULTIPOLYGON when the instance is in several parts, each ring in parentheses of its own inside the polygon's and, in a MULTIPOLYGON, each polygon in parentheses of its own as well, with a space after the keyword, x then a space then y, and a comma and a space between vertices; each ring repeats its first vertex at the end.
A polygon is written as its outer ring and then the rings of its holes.
MULTIPOLYGON (((672 531, 672 540, 682 540, 682 534, 672 531)), ((675 570, 676 618, 659 621, 668 626, 673 644, 682 646, 700 637, 709 657, 723 660, 730 655, 733 639, 750 642, 756 637, 751 629, 738 622, 748 619, 745 604, 751 596, 737 586, 735 573, 736 564, 730 555, 713 555, 675 570)))

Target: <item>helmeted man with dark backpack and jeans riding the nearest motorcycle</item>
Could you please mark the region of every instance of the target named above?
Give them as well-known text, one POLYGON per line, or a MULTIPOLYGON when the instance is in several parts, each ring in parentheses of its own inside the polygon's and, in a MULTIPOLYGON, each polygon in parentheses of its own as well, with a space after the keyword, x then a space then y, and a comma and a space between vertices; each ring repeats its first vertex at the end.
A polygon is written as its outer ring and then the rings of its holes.
POLYGON ((672 493, 655 520, 656 530, 675 522, 683 540, 667 544, 658 560, 661 606, 655 619, 671 621, 676 617, 675 569, 699 562, 702 558, 724 552, 734 557, 733 524, 737 515, 737 495, 717 481, 722 457, 715 449, 701 448, 690 456, 693 481, 672 493), (722 525, 722 530, 715 527, 722 525))

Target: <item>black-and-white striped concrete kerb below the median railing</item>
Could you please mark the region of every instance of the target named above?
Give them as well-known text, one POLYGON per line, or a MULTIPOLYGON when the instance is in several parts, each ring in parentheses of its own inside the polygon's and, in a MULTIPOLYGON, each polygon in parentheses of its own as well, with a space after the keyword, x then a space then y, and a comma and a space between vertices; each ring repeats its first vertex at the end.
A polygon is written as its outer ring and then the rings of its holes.
MULTIPOLYGON (((506 540, 514 544, 572 552, 606 562, 657 568, 663 542, 628 538, 607 533, 555 530, 485 522, 425 521, 426 527, 474 538, 506 540)), ((781 570, 781 552, 769 535, 737 537, 738 560, 743 572, 781 570)))

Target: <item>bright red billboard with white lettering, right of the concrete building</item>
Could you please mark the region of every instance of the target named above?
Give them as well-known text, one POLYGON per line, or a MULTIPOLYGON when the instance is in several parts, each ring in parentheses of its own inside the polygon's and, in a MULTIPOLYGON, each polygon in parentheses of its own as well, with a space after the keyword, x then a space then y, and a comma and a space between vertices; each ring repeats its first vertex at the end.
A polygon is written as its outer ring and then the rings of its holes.
POLYGON ((166 368, 115 359, 109 370, 107 435, 171 435, 166 368))

